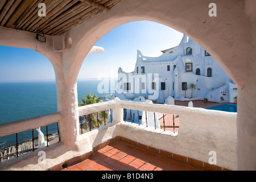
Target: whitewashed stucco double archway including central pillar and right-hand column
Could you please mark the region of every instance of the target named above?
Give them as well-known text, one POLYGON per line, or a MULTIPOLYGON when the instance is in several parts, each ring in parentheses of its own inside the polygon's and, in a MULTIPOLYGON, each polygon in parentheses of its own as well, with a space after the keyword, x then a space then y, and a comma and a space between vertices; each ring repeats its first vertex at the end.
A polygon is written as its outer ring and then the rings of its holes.
POLYGON ((238 169, 256 169, 256 13, 253 0, 217 0, 217 16, 209 16, 210 0, 121 1, 110 13, 102 13, 64 34, 72 46, 53 52, 51 36, 46 44, 36 43, 34 34, 0 28, 2 46, 35 49, 55 69, 62 141, 77 141, 78 109, 76 80, 82 61, 94 44, 113 28, 137 20, 151 20, 183 32, 204 47, 238 86, 238 169), (5 33, 7 32, 7 36, 5 33), (12 36, 13 34, 14 36, 12 36), (9 38, 9 39, 8 39, 9 38), (246 123, 246 124, 245 124, 246 123))

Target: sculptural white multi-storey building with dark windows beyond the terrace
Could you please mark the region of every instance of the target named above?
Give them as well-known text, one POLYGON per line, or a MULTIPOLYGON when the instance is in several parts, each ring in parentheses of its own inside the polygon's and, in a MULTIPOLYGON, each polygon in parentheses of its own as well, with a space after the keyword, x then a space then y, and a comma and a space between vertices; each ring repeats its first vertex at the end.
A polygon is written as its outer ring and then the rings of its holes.
POLYGON ((131 100, 143 96, 158 103, 164 103, 168 96, 175 100, 236 102, 236 84, 198 43, 184 35, 179 46, 162 52, 159 57, 146 57, 138 50, 133 72, 119 68, 115 97, 131 100))

